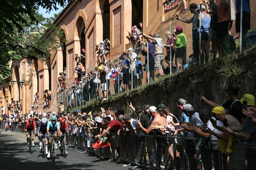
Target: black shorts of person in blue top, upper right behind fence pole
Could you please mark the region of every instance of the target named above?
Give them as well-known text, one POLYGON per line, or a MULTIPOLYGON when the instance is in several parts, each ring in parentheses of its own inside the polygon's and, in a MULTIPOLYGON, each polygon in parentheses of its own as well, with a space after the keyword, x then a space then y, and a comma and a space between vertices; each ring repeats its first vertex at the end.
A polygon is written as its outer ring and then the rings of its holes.
MULTIPOLYGON (((236 14, 236 32, 240 32, 240 13, 236 14)), ((243 12, 243 30, 251 29, 251 14, 248 12, 243 12)))

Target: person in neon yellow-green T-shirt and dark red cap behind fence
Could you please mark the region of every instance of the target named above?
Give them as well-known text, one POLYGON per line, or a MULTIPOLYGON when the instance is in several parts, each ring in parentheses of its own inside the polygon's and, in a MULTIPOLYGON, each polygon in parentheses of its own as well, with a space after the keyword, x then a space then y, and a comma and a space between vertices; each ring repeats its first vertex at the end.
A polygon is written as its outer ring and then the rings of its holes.
POLYGON ((177 70, 181 71, 183 69, 182 65, 186 63, 186 56, 187 56, 187 37, 183 33, 182 26, 177 26, 175 28, 175 34, 177 36, 177 40, 175 44, 175 63, 177 66, 177 70))

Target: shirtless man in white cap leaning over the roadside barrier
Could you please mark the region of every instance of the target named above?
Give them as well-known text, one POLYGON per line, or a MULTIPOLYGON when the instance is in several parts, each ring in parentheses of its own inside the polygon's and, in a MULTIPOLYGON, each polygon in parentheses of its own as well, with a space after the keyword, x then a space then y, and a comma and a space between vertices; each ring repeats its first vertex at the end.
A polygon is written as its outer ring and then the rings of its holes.
MULTIPOLYGON (((154 120, 151 122, 150 125, 159 125, 159 126, 165 126, 165 117, 161 117, 161 115, 157 112, 157 108, 155 106, 151 106, 149 107, 149 109, 147 109, 147 112, 149 112, 149 114, 151 114, 154 118, 154 120)), ((149 132, 151 132, 153 130, 153 128, 151 128, 151 126, 149 126, 149 128, 144 128, 143 126, 141 126, 141 123, 138 122, 139 127, 147 134, 149 134, 149 132)), ((159 132, 159 134, 157 135, 161 135, 163 134, 162 131, 159 132)), ((160 164, 161 164, 161 159, 162 159, 162 155, 161 155, 161 139, 157 140, 157 162, 158 162, 158 169, 161 169, 160 164)))

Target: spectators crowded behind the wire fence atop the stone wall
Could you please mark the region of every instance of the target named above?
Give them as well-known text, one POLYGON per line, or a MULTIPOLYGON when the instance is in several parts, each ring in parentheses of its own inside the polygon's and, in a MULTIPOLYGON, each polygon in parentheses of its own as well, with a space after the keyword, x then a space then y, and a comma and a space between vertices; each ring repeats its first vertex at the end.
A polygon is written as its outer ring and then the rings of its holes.
POLYGON ((256 43, 256 22, 250 17, 255 16, 256 8, 251 8, 255 6, 254 1, 244 0, 240 20, 241 0, 189 4, 183 12, 189 9, 190 13, 184 13, 183 18, 177 15, 169 27, 149 35, 143 33, 143 23, 139 22, 131 26, 127 36, 130 43, 118 57, 111 57, 109 39, 96 45, 97 66, 89 68, 89 73, 85 73, 82 49, 81 57, 76 54, 74 59, 77 77, 73 85, 66 87, 66 68, 57 81, 60 110, 82 106, 92 99, 106 100, 169 73, 244 51, 256 43))

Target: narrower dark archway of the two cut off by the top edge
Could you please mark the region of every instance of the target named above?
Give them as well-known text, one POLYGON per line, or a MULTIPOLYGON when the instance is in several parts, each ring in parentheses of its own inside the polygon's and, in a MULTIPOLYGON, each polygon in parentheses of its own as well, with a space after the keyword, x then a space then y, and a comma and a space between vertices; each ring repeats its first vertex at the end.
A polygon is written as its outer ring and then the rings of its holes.
POLYGON ((109 0, 106 0, 103 5, 103 39, 110 38, 110 9, 109 0))

